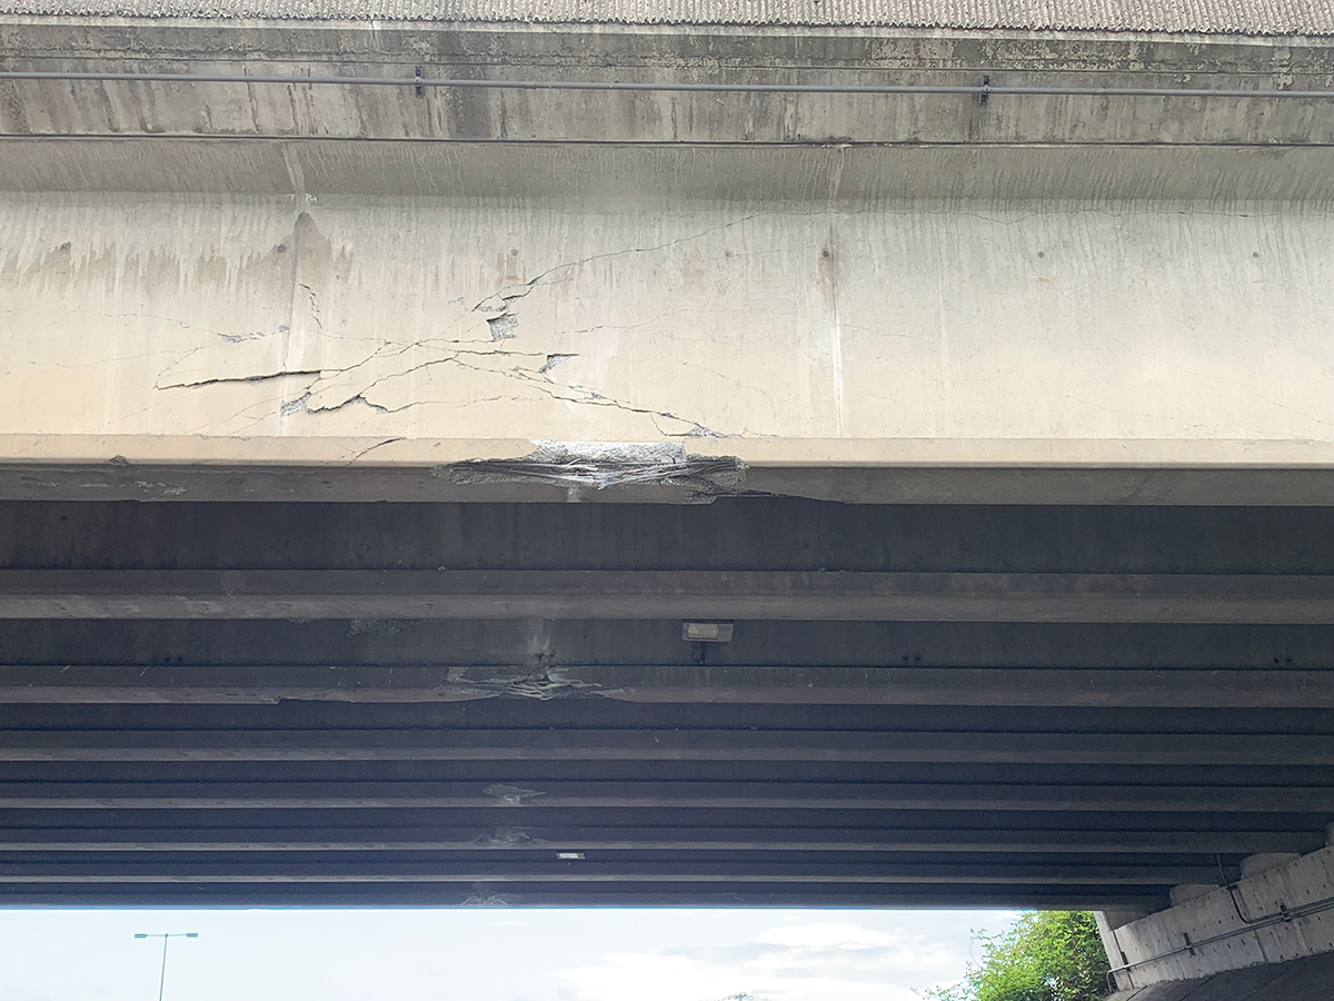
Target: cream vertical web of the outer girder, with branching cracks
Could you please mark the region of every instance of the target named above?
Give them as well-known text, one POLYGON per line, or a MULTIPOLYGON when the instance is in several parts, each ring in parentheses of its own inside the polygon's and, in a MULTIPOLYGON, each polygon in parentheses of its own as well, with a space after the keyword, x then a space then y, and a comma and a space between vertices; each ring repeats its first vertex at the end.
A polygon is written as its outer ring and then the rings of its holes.
POLYGON ((1334 439, 1326 212, 816 204, 5 196, 0 430, 1334 439))

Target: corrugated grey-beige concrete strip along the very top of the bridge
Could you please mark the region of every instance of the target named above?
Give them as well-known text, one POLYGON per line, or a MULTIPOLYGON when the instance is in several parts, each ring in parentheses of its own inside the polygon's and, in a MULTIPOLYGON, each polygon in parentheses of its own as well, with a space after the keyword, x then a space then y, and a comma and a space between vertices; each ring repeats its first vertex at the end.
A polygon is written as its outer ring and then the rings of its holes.
POLYGON ((0 11, 129 17, 1334 33, 1334 4, 1329 0, 5 0, 0 11))

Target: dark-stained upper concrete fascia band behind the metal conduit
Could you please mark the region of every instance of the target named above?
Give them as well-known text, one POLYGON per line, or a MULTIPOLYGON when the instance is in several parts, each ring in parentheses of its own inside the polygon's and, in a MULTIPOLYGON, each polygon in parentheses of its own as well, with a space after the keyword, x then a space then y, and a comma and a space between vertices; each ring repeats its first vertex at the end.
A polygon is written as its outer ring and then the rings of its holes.
MULTIPOLYGON (((0 17, 8 69, 280 76, 1329 91, 1329 39, 862 28, 0 17)), ((1334 103, 1098 95, 667 93, 4 81, 0 135, 534 143, 1322 145, 1334 103)))

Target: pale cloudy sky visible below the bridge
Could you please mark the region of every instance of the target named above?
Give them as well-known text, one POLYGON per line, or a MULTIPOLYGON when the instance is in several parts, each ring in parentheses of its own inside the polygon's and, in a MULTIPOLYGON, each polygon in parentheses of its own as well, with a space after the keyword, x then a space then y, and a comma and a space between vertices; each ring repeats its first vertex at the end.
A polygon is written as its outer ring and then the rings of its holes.
POLYGON ((1014 912, 0 910, 0 1001, 916 1001, 1014 912))

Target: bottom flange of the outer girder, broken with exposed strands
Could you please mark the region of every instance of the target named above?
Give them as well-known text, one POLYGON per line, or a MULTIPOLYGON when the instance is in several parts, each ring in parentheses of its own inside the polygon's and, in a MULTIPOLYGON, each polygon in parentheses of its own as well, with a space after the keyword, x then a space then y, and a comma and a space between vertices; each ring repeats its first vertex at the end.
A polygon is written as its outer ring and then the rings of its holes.
POLYGON ((1334 505, 1334 440, 0 435, 0 499, 1334 505))

